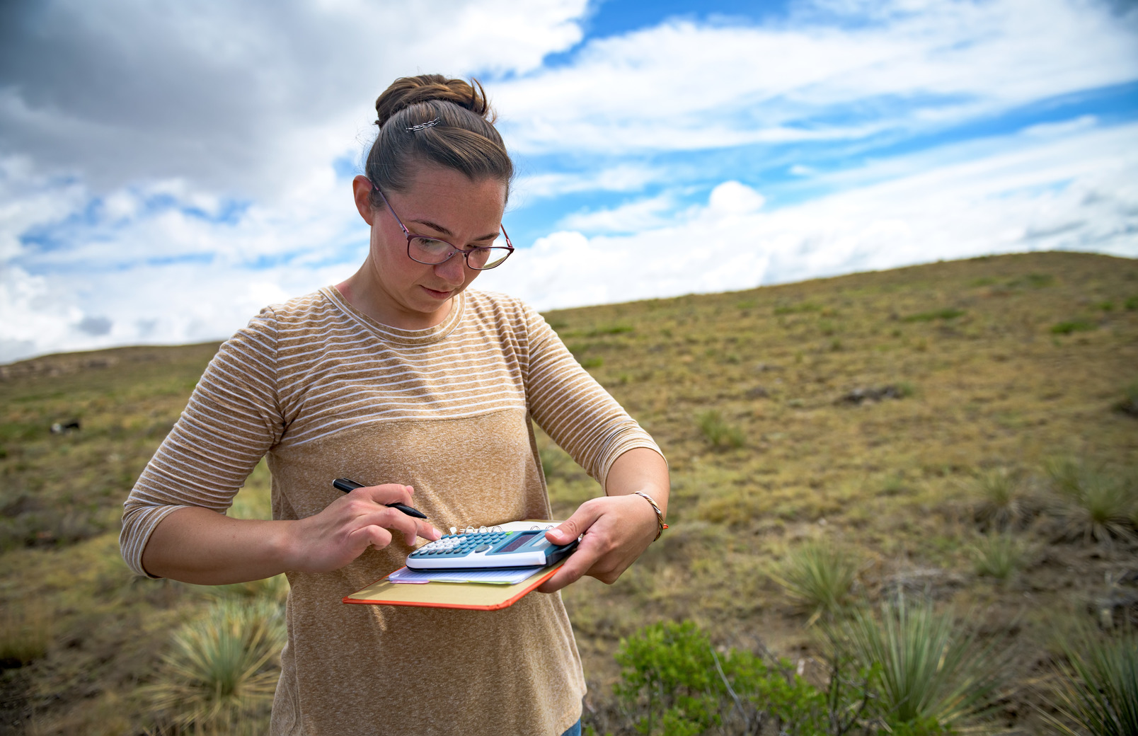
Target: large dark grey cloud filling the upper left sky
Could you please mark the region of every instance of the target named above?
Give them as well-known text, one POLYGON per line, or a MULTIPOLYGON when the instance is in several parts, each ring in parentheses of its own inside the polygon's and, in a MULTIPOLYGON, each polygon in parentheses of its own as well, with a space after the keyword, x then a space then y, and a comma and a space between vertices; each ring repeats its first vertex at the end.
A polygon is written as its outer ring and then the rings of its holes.
POLYGON ((185 179, 275 197, 354 156, 396 76, 526 73, 586 0, 24 3, 0 24, 0 154, 97 192, 185 179), (426 67, 426 68, 423 68, 426 67))

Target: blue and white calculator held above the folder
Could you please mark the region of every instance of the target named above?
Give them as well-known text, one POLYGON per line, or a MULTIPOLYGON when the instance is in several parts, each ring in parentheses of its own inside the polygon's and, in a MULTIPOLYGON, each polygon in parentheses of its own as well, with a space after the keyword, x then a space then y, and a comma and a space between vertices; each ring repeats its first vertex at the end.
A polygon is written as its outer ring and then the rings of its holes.
POLYGON ((446 535, 407 555, 412 570, 453 570, 470 568, 545 567, 564 557, 577 547, 550 544, 545 529, 531 531, 476 531, 446 535))

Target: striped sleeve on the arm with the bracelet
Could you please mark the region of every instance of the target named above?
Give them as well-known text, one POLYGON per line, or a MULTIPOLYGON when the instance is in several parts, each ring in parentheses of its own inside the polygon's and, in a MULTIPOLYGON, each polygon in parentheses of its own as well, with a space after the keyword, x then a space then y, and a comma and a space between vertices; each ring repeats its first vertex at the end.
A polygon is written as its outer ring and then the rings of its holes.
POLYGON ((604 487, 617 457, 636 447, 660 453, 652 437, 583 369, 533 308, 523 308, 529 344, 526 399, 534 421, 604 487))

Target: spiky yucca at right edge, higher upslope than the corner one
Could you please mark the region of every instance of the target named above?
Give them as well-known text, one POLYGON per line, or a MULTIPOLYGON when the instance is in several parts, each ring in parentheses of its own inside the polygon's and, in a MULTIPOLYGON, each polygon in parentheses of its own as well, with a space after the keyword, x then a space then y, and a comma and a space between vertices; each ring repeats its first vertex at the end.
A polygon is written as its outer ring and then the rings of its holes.
POLYGON ((1103 543, 1133 538, 1138 489, 1132 480, 1071 460, 1052 461, 1047 472, 1062 502, 1058 516, 1063 537, 1103 543))

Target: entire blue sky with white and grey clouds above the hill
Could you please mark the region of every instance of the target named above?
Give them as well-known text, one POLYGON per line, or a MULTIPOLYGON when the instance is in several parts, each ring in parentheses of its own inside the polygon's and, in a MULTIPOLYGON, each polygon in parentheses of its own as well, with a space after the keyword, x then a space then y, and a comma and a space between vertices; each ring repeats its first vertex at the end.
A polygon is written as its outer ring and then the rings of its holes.
POLYGON ((7 0, 0 363, 224 339, 363 262, 396 77, 479 78, 539 309, 1138 257, 1138 3, 7 0))

